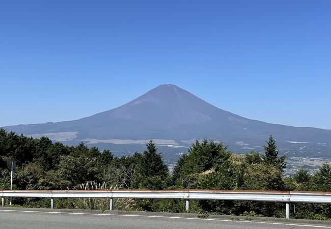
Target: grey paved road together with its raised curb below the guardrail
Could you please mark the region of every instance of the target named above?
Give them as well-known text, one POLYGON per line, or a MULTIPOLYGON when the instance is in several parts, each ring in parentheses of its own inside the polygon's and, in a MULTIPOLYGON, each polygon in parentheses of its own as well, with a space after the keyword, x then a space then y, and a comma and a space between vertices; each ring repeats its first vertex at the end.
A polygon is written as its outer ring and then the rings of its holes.
POLYGON ((329 221, 197 214, 0 208, 1 228, 331 228, 329 221))

